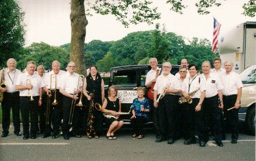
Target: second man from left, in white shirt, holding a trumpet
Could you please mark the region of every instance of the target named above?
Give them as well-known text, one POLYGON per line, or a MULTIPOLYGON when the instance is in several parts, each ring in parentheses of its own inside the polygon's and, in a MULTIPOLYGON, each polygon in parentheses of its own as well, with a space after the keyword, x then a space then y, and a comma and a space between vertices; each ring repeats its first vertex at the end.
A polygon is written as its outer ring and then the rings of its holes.
POLYGON ((36 117, 38 105, 42 104, 42 88, 44 83, 41 77, 35 74, 36 63, 27 63, 27 72, 18 76, 16 90, 20 91, 20 111, 23 123, 23 139, 29 137, 29 116, 30 116, 30 137, 36 138, 36 117))

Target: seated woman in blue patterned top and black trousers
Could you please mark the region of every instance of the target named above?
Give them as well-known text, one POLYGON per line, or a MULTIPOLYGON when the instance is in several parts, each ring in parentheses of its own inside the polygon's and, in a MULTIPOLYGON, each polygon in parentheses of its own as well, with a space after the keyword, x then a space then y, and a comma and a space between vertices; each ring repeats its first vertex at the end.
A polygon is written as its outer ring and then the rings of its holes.
POLYGON ((149 99, 144 98, 144 88, 137 88, 138 98, 133 100, 131 110, 131 125, 133 128, 132 137, 143 138, 143 125, 149 119, 150 104, 149 99))

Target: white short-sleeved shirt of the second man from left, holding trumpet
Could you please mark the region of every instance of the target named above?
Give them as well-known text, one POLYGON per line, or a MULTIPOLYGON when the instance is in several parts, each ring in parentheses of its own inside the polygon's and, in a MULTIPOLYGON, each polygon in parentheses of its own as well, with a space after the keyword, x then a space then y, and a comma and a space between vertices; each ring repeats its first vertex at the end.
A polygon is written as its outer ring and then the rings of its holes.
MULTIPOLYGON (((44 87, 44 82, 38 74, 33 74, 30 76, 27 72, 18 75, 17 82, 15 85, 27 85, 27 80, 31 81, 33 85, 32 96, 39 96, 39 88, 44 87)), ((30 89, 20 90, 20 96, 31 96, 30 89)))

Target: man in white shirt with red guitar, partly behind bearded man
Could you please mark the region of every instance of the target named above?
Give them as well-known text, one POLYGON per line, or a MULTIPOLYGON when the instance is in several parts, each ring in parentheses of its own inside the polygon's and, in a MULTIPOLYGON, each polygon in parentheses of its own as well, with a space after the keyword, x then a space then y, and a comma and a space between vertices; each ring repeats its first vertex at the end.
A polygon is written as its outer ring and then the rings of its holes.
POLYGON ((149 64, 151 66, 151 70, 147 72, 145 85, 147 88, 150 88, 149 92, 147 93, 147 96, 149 97, 149 100, 150 100, 155 132, 158 138, 161 133, 159 128, 159 118, 157 117, 158 108, 154 107, 154 102, 151 96, 153 96, 153 99, 154 99, 154 85, 155 85, 155 81, 157 81, 157 77, 159 76, 160 69, 157 66, 157 58, 150 58, 149 64))

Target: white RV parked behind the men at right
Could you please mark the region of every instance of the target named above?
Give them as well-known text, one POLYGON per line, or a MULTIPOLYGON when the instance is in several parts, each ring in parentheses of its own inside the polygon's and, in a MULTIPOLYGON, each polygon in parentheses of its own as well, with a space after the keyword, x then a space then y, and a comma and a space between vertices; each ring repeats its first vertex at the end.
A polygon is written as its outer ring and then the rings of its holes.
POLYGON ((220 32, 218 38, 221 61, 231 60, 233 71, 241 73, 248 66, 256 64, 256 21, 247 21, 227 32, 220 32))

